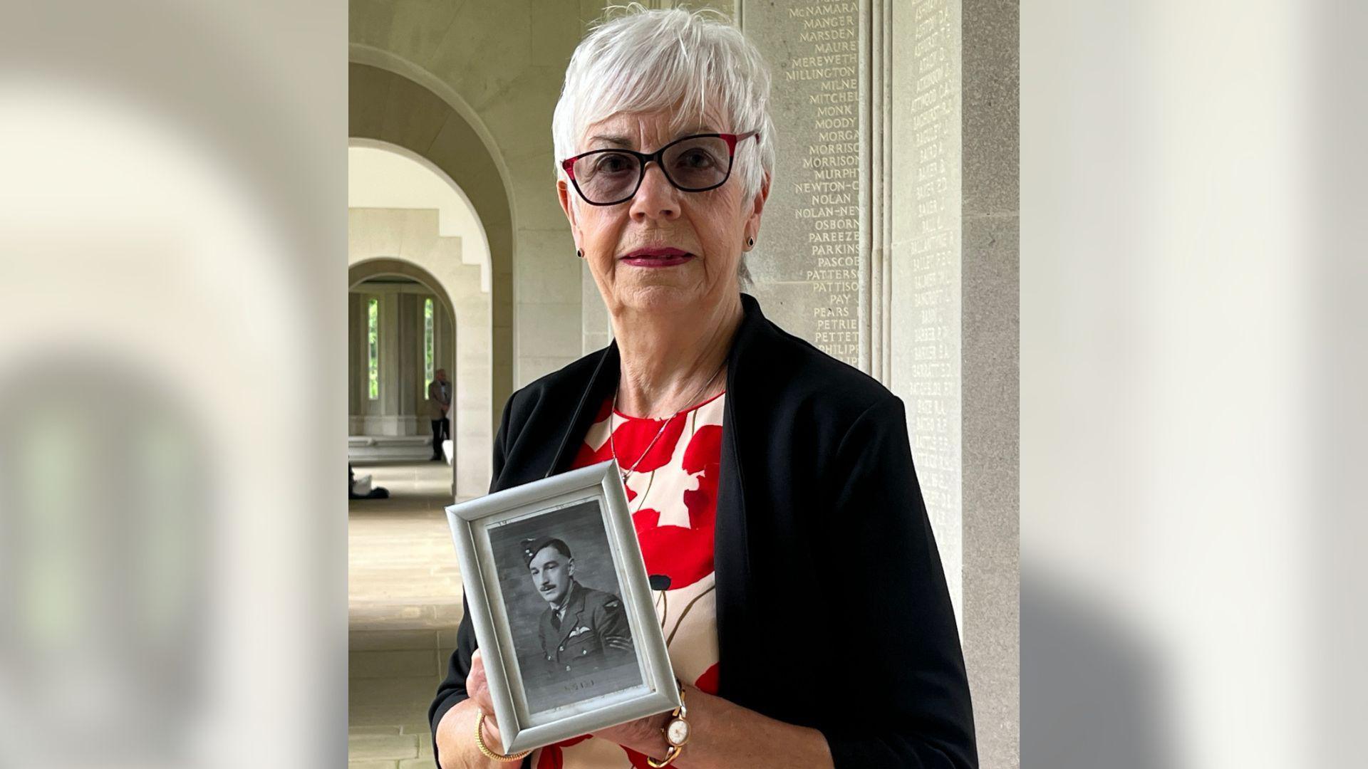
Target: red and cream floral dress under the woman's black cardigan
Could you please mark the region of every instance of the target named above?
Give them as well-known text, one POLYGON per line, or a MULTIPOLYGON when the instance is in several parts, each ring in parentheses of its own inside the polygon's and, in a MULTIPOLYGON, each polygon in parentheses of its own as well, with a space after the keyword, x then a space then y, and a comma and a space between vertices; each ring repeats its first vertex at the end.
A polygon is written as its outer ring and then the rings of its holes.
MULTIPOLYGON (((717 475, 722 457, 725 393, 672 417, 617 413, 609 400, 594 417, 575 467, 613 458, 636 471, 627 479, 627 502, 642 543, 646 573, 655 584, 655 616, 665 632, 680 680, 717 694, 717 594, 713 575, 713 525, 717 475), (609 426, 613 441, 609 441, 609 426), (661 434, 655 443, 651 439, 661 434), (650 446, 650 450, 647 450, 650 446), (644 456, 643 456, 644 452, 644 456), (640 457, 640 462, 637 462, 640 457), (665 577, 665 579, 661 579, 665 577)), ((610 740, 569 739, 532 754, 535 769, 646 769, 646 757, 610 740)))

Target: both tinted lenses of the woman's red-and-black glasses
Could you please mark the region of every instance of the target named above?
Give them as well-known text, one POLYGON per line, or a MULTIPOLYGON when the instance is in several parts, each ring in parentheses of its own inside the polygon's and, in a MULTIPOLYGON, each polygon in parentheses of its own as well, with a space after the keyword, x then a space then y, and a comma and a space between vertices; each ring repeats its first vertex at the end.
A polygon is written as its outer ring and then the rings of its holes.
MULTIPOLYGON (((685 138, 665 149, 661 170, 685 192, 715 187, 732 170, 731 149, 718 137, 685 138)), ((591 203, 632 197, 640 179, 642 160, 627 152, 595 152, 575 161, 575 181, 591 203)))

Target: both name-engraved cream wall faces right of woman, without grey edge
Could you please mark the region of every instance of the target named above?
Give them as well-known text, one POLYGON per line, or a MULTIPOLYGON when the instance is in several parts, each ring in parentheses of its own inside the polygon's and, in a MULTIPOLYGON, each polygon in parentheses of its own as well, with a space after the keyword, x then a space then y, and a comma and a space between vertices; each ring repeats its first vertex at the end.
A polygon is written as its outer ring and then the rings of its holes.
POLYGON ((958 14, 958 0, 740 5, 741 29, 773 70, 777 129, 761 242, 748 257, 754 293, 777 323, 833 357, 865 371, 874 371, 874 356, 888 361, 878 374, 906 404, 918 479, 962 620, 958 14), (876 22, 891 33, 880 62, 870 55, 876 22), (888 103, 877 105, 870 101, 876 67, 892 86, 888 103), (870 190, 873 144, 885 141, 884 126, 871 122, 885 112, 891 189, 870 190), (888 193, 892 234, 889 285, 880 291, 886 307, 877 315, 871 193, 888 193), (871 316, 888 323, 886 337, 871 316))

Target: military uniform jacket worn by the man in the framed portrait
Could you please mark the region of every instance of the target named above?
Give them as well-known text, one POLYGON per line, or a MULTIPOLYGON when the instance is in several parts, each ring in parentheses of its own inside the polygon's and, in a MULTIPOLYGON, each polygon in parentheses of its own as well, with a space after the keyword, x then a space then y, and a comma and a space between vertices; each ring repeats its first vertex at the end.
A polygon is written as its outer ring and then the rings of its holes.
POLYGON ((555 609, 542 612, 542 654, 546 666, 561 673, 599 670, 632 654, 632 632, 622 601, 602 590, 570 583, 565 616, 555 623, 555 609))

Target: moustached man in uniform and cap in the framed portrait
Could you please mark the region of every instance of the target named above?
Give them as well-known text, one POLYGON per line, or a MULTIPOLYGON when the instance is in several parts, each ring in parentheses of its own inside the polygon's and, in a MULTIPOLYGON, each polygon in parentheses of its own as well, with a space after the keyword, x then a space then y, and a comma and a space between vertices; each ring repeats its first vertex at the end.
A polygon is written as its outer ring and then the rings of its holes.
POLYGON ((542 613, 542 654, 549 670, 588 673, 633 658, 622 599, 575 580, 570 547, 555 538, 523 542, 532 586, 550 606, 542 613))

